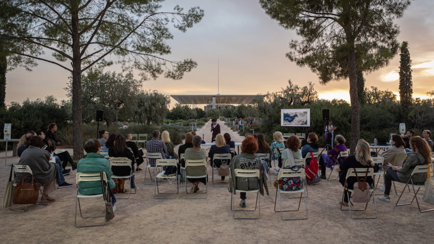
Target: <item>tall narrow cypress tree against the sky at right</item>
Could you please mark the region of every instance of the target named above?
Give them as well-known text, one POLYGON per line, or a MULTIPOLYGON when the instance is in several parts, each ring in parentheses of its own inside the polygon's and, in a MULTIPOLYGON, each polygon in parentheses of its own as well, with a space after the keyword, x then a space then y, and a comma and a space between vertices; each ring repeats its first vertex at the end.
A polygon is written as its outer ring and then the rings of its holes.
POLYGON ((408 109, 413 101, 412 60, 408 51, 408 42, 401 45, 401 60, 399 61, 399 97, 401 100, 401 119, 408 118, 408 109))

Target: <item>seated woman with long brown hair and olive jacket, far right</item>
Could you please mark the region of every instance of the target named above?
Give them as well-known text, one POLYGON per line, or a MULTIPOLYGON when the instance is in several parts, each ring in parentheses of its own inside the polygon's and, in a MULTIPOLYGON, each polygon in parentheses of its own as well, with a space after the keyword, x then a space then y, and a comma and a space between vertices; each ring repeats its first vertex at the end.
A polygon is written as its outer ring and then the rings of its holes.
MULTIPOLYGON (((384 175, 384 196, 378 199, 390 203, 390 189, 392 181, 406 183, 410 177, 414 184, 421 184, 426 181, 426 173, 417 173, 412 176, 413 169, 422 164, 431 163, 431 149, 428 142, 419 136, 410 139, 410 149, 414 152, 404 160, 402 166, 388 167, 384 175)), ((381 189, 381 188, 380 188, 381 189)))

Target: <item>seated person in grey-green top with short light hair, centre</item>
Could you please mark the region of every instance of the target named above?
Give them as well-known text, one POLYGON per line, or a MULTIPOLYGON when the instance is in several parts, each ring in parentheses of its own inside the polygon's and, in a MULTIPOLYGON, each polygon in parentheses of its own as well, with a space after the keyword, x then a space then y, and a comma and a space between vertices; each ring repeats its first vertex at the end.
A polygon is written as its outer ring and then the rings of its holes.
MULTIPOLYGON (((188 134, 188 133, 187 133, 188 134)), ((191 133, 190 133, 191 134, 191 133)), ((196 135, 192 139, 192 148, 187 148, 184 153, 184 159, 207 159, 205 149, 201 148, 202 137, 196 135)), ((189 176, 203 176, 205 175, 206 168, 201 166, 189 166, 185 169, 186 174, 189 176)), ((187 180, 193 183, 193 187, 191 187, 190 192, 198 192, 199 191, 199 183, 202 182, 206 185, 208 179, 204 178, 187 178, 187 180)))

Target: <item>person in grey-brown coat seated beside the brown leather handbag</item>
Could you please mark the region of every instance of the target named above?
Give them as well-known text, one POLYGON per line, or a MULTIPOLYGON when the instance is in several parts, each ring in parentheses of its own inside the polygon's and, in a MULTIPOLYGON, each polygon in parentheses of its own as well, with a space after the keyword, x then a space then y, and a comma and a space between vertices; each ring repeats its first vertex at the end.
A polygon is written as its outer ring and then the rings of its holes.
MULTIPOLYGON (((32 169, 35 180, 43 186, 43 196, 47 202, 55 202, 49 194, 56 190, 55 180, 60 179, 59 170, 56 163, 50 162, 50 154, 41 149, 44 146, 42 138, 32 136, 27 142, 27 149, 22 152, 19 158, 20 165, 29 165, 32 169)), ((21 182, 22 174, 17 173, 15 182, 21 182)), ((24 182, 32 182, 32 176, 25 174, 24 182)))

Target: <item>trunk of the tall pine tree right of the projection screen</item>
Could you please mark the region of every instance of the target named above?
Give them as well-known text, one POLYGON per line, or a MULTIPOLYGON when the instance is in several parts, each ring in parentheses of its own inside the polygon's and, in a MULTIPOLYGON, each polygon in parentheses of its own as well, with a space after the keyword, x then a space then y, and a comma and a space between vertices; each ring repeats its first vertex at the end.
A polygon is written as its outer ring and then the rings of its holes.
POLYGON ((348 71, 350 79, 350 101, 351 101, 351 145, 350 153, 354 153, 358 140, 360 139, 360 107, 357 95, 357 64, 354 45, 348 50, 348 71))

